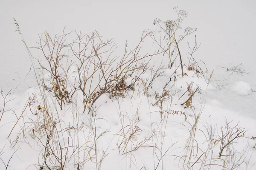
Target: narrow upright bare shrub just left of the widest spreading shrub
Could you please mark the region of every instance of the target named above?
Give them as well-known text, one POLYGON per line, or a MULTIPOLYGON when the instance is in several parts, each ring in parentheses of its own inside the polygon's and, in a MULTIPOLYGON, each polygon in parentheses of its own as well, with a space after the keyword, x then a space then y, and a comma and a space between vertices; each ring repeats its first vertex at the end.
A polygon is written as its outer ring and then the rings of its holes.
POLYGON ((66 54, 70 48, 66 38, 71 32, 64 33, 64 30, 61 36, 55 36, 54 39, 45 31, 44 36, 39 36, 39 47, 37 47, 42 51, 43 57, 47 61, 47 64, 44 65, 41 60, 37 59, 38 63, 50 75, 49 85, 46 85, 44 79, 41 80, 42 85, 50 94, 53 93, 52 96, 56 98, 61 110, 65 103, 72 102, 71 97, 76 91, 76 88, 67 89, 68 72, 72 65, 72 60, 68 61, 68 55, 66 54), (63 64, 63 60, 66 60, 66 64, 63 64))

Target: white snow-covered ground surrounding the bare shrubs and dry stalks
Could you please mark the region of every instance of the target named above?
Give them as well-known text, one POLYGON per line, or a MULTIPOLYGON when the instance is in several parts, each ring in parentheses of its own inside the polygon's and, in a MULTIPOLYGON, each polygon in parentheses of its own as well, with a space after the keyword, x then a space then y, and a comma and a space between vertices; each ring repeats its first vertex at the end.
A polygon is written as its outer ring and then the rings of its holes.
MULTIPOLYGON (((70 170, 255 170, 255 5, 253 0, 1 2, 0 170, 61 169, 61 166, 70 170), (112 56, 120 57, 125 52, 126 40, 129 49, 133 49, 143 30, 157 29, 152 24, 155 18, 175 19, 175 6, 189 13, 182 26, 197 28, 180 42, 183 62, 188 63, 187 42, 194 45, 197 35, 197 43, 201 45, 193 57, 208 71, 207 77, 199 77, 195 70, 187 68, 184 68, 187 76, 182 77, 178 59, 168 68, 167 55, 154 56, 149 64, 155 64, 156 69, 163 61, 163 74, 147 93, 143 84, 151 77, 151 71, 143 74, 134 90, 124 93, 125 98, 102 95, 93 105, 93 116, 91 111, 87 114, 88 108, 83 112, 81 91, 61 110, 52 92, 38 87, 32 62, 13 20, 15 17, 29 47, 38 46, 38 34, 44 34, 45 30, 54 37, 61 35, 66 26, 65 32, 81 30, 90 35, 96 30, 102 40, 113 37, 118 48, 112 56), (170 91, 162 103, 154 93, 161 95, 166 82, 170 91), (186 91, 191 82, 194 82, 192 90, 196 85, 201 90, 192 97, 191 105, 185 107, 186 103, 181 104, 189 98, 186 91), (8 91, 10 94, 6 96, 8 91), (244 132, 244 136, 224 147, 219 157, 221 148, 227 144, 226 130, 235 130, 234 136, 244 132)), ((76 38, 76 34, 70 34, 67 41, 71 43, 76 38)), ((154 47, 150 38, 145 39, 141 55, 154 51, 154 47)), ((35 59, 44 59, 40 50, 30 50, 35 59)), ((76 64, 77 61, 70 68, 70 82, 79 77, 76 64)), ((41 69, 35 71, 37 78, 44 78, 50 88, 49 74, 41 69)), ((131 83, 132 78, 127 77, 126 83, 131 83)))

